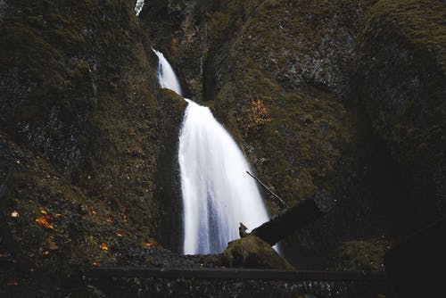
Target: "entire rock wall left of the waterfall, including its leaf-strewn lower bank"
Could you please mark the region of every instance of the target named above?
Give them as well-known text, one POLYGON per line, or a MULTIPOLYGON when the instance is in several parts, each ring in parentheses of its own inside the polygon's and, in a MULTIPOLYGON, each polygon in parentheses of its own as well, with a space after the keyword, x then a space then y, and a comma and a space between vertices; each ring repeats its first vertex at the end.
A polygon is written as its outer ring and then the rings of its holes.
POLYGON ((2 1, 0 17, 0 261, 25 272, 7 278, 159 266, 153 237, 172 246, 181 226, 163 210, 179 208, 166 154, 186 103, 159 92, 132 1, 2 1))

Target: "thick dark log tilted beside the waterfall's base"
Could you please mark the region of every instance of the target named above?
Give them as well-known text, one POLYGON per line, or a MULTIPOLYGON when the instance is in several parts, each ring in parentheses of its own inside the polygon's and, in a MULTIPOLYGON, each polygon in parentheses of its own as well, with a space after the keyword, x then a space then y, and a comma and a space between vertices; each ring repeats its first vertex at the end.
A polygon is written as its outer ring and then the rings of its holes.
POLYGON ((331 211, 334 203, 330 195, 318 193, 278 213, 260 227, 254 228, 251 234, 272 246, 331 211))

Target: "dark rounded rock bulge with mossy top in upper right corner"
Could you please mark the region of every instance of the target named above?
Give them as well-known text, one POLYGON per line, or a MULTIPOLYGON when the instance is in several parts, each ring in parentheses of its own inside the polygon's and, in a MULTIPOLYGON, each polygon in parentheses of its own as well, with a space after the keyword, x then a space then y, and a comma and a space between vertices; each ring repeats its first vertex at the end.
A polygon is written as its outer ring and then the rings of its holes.
POLYGON ((380 1, 356 56, 361 100, 424 222, 446 212, 445 12, 442 1, 380 1))

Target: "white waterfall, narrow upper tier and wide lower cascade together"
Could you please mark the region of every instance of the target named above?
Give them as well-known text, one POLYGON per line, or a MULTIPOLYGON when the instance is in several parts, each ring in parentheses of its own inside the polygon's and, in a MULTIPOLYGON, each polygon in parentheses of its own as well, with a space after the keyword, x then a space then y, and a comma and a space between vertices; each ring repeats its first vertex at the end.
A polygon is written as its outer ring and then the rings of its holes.
MULTIPOLYGON (((160 60, 161 87, 181 95, 178 79, 164 55, 160 60)), ((178 161, 184 207, 184 253, 222 252, 237 239, 239 222, 255 228, 268 213, 244 154, 213 117, 209 108, 186 99, 179 136, 178 161)))

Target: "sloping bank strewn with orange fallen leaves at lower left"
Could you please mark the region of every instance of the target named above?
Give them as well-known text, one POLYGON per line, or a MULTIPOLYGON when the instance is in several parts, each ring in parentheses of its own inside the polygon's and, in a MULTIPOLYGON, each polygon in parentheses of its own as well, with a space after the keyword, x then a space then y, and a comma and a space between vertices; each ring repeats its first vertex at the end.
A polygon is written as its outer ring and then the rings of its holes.
POLYGON ((2 132, 0 149, 0 250, 2 257, 11 253, 4 275, 21 285, 17 295, 54 293, 78 278, 82 267, 128 264, 132 253, 139 253, 137 262, 150 263, 147 244, 156 241, 132 227, 126 214, 84 195, 47 160, 2 132))

